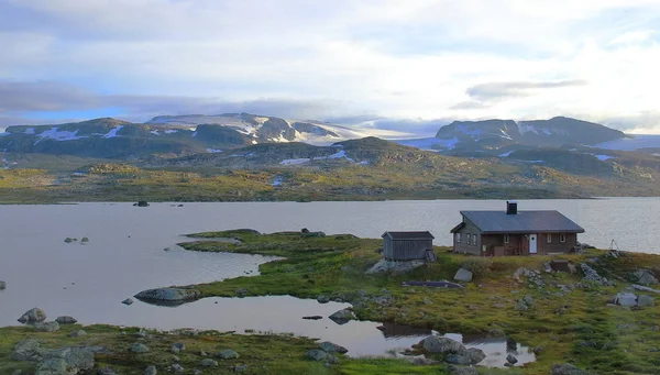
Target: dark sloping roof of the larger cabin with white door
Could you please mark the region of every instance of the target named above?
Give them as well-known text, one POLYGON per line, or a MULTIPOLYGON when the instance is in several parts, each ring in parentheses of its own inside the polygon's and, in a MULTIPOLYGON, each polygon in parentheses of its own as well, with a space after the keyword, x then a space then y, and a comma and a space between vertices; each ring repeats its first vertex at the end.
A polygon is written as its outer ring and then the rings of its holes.
POLYGON ((482 233, 583 233, 584 229, 559 211, 461 211, 482 233))

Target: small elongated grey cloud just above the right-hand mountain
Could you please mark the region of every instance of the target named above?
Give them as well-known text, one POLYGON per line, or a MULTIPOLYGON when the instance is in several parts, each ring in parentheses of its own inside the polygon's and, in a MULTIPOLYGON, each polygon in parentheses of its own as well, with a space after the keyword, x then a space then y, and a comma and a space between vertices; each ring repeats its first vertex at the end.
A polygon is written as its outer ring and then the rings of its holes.
MULTIPOLYGON (((490 82, 472 86, 466 93, 471 98, 480 101, 499 100, 505 98, 527 97, 539 90, 557 89, 565 87, 584 86, 586 81, 560 80, 560 81, 513 81, 513 82, 490 82)), ((476 106, 476 104, 475 104, 476 106)))

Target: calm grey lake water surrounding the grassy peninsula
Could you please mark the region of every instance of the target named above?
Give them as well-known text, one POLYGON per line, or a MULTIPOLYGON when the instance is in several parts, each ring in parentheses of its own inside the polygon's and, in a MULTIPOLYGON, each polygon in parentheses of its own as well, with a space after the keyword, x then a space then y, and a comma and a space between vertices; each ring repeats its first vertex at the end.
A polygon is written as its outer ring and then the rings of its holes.
MULTIPOLYGON (((72 315, 82 323, 294 332, 331 340, 349 348, 352 355, 383 354, 388 349, 409 348, 427 333, 388 335, 377 330, 380 324, 375 322, 338 326, 327 318, 306 321, 302 316, 327 317, 346 305, 320 305, 292 297, 205 299, 177 308, 140 301, 127 307, 121 300, 153 287, 255 275, 258 264, 270 260, 185 252, 175 246, 185 240, 180 238, 184 233, 308 228, 378 238, 387 230, 429 230, 437 244, 446 245, 451 241, 449 230, 460 221, 459 210, 479 209, 504 209, 504 202, 0 206, 0 280, 8 284, 8 289, 0 291, 0 326, 15 324, 25 310, 41 307, 50 318, 72 315), (88 236, 90 242, 67 244, 67 236, 88 236), (165 252, 165 247, 173 250, 165 252)), ((650 224, 640 225, 660 222, 658 198, 519 201, 519 209, 562 211, 585 228, 586 233, 580 235, 582 242, 608 247, 614 239, 622 250, 660 253, 654 245, 660 243, 660 232, 650 224)), ((506 353, 502 340, 474 342, 491 345, 479 346, 486 352, 506 353)), ((495 355, 490 359, 499 361, 495 355)))

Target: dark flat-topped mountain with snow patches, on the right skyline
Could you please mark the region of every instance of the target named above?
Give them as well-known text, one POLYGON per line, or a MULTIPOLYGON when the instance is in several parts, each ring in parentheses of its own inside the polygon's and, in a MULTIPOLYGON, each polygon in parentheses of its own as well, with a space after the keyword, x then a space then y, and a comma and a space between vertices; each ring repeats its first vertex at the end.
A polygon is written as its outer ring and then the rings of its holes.
POLYGON ((607 126, 557 117, 550 120, 454 121, 436 134, 438 150, 499 150, 512 145, 560 147, 566 144, 595 145, 626 137, 607 126))

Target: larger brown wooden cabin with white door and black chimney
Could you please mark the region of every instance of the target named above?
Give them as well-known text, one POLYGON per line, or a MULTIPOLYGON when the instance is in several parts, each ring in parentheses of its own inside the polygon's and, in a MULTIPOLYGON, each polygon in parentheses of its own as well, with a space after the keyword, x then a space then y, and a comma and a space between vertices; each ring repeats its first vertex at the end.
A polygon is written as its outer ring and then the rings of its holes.
POLYGON ((451 230, 455 253, 480 256, 573 253, 584 229, 559 211, 518 211, 506 202, 502 211, 461 211, 451 230))

